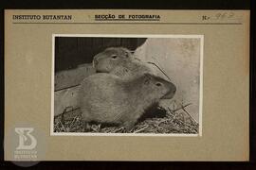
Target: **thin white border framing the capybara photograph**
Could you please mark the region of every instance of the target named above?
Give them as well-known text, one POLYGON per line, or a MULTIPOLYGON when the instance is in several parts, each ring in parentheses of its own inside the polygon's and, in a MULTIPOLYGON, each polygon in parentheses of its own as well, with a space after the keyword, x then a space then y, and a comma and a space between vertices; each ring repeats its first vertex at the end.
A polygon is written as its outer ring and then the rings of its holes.
POLYGON ((50 136, 174 136, 174 137, 202 137, 203 112, 203 58, 204 35, 193 34, 52 34, 52 67, 51 67, 51 111, 50 136), (54 73, 55 73, 55 38, 56 37, 98 37, 98 38, 197 38, 200 39, 200 83, 199 83, 199 130, 197 134, 155 134, 155 133, 90 133, 90 132, 54 132, 54 73))

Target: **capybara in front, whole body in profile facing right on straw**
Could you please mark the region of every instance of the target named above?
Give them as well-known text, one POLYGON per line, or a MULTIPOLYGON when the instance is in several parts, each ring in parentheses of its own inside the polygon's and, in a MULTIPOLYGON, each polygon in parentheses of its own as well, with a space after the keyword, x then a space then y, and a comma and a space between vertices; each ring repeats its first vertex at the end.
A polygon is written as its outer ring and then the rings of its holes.
POLYGON ((99 73, 82 80, 79 102, 85 123, 117 124, 130 130, 144 110, 176 88, 161 77, 144 74, 130 79, 99 73))

